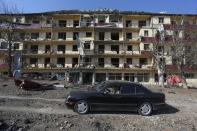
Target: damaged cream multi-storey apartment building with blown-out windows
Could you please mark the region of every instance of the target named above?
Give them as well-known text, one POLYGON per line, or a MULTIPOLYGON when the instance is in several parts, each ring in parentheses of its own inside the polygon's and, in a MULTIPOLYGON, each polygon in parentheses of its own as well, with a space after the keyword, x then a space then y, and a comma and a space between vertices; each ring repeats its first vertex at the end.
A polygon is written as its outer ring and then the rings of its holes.
MULTIPOLYGON (((18 21, 30 26, 18 28, 23 39, 16 43, 21 70, 44 78, 58 74, 83 84, 105 80, 155 83, 151 38, 159 25, 170 26, 180 17, 116 10, 22 14, 18 21)), ((188 21, 196 24, 197 16, 188 15, 188 21)), ((172 58, 165 56, 165 64, 172 65, 172 58)), ((197 78, 197 70, 187 73, 188 79, 197 78)))

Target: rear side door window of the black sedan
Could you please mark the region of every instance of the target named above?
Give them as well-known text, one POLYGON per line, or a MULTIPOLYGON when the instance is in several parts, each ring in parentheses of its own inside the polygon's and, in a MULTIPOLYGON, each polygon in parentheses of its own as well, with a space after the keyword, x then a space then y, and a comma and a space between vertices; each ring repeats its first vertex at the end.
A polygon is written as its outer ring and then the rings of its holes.
POLYGON ((135 94, 135 87, 131 84, 123 84, 120 90, 121 94, 135 94))

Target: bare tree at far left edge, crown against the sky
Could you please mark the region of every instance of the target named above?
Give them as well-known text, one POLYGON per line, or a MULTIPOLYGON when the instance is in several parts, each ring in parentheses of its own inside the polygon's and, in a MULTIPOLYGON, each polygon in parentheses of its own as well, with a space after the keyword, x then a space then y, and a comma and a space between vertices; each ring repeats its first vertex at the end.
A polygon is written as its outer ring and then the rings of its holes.
POLYGON ((17 31, 18 17, 20 13, 16 6, 8 6, 0 1, 0 32, 1 38, 8 44, 8 76, 12 76, 12 53, 13 43, 18 40, 19 32, 17 31))

